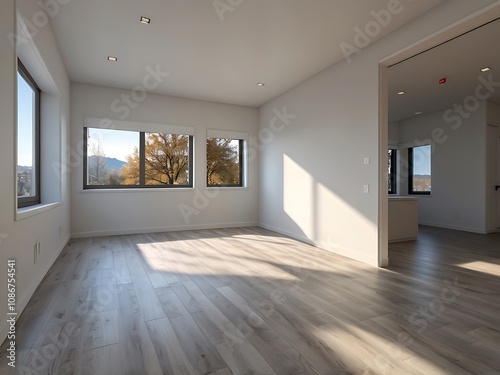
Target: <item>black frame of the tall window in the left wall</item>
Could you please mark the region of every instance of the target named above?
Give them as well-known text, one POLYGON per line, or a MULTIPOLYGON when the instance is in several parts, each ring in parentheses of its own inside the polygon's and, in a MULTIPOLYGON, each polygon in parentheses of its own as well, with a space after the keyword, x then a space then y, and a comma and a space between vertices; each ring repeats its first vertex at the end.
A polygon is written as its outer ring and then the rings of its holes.
MULTIPOLYGON (((41 94, 42 91, 40 87, 36 83, 35 79, 31 76, 28 69, 24 66, 20 59, 17 59, 17 72, 21 75, 24 81, 31 87, 33 92, 35 93, 35 118, 34 118, 34 136, 33 136, 33 159, 34 164, 32 166, 33 175, 32 176, 32 184, 34 181, 35 194, 30 197, 17 197, 17 207, 25 208, 30 206, 35 206, 41 203, 41 175, 40 175, 40 102, 41 102, 41 94)), ((17 77, 17 76, 16 76, 17 77)), ((16 87, 18 87, 19 82, 17 82, 16 87)), ((17 99, 16 99, 17 100, 17 99)), ((17 108, 17 105, 16 105, 17 108)), ((17 112, 16 112, 17 113, 17 112)), ((16 115, 17 116, 17 115, 16 115)), ((17 120, 19 121, 19 119, 17 120)), ((16 125, 16 134, 19 138, 21 135, 19 134, 19 123, 16 125)), ((17 146, 16 146, 17 147, 17 146)), ((18 167, 18 155, 16 153, 16 181, 17 181, 17 167, 18 167)), ((33 185, 32 185, 33 186, 33 185)), ((16 189, 17 194, 17 189, 16 189)))

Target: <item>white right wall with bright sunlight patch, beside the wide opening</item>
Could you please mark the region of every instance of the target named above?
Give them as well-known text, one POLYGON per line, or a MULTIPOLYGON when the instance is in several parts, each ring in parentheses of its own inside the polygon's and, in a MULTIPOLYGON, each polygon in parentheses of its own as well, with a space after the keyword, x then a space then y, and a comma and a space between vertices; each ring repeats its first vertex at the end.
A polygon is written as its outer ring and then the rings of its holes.
POLYGON ((262 106, 261 132, 271 127, 274 110, 286 107, 296 117, 261 153, 261 224, 372 265, 384 263, 378 155, 379 146, 386 154, 388 130, 379 133, 379 62, 492 2, 445 2, 351 56, 350 64, 337 63, 262 106))

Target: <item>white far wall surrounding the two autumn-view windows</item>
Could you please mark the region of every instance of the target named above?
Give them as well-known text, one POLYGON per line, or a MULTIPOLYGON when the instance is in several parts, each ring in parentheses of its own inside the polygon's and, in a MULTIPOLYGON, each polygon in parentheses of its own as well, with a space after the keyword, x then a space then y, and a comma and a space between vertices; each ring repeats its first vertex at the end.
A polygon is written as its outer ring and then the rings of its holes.
MULTIPOLYGON (((205 187, 207 129, 247 132, 258 129, 256 108, 148 94, 131 109, 126 121, 195 127, 194 189, 103 191, 83 190, 81 142, 84 117, 116 119, 112 103, 130 91, 99 86, 71 86, 71 148, 76 155, 71 175, 73 236, 154 232, 196 228, 256 225, 259 218, 258 158, 248 163, 246 188, 205 187), (208 195, 208 198, 207 198, 208 195), (213 197, 217 195, 216 197, 213 197), (204 197, 204 198, 201 198, 204 197), (199 212, 181 214, 184 204, 199 212)), ((138 129, 141 130, 141 129, 138 129)))

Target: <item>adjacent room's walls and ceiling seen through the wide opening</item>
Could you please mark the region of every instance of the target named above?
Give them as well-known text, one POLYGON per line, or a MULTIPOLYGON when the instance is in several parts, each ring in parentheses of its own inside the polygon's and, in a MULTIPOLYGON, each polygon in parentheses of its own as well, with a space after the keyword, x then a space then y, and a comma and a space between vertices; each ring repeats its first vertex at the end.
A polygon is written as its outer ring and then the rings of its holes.
POLYGON ((415 237, 416 224, 500 227, 500 93, 491 86, 500 60, 488 47, 499 32, 495 20, 388 69, 389 207, 408 212, 398 205, 412 204, 408 195, 418 200, 418 220, 416 212, 404 224, 393 215, 389 240, 415 237))

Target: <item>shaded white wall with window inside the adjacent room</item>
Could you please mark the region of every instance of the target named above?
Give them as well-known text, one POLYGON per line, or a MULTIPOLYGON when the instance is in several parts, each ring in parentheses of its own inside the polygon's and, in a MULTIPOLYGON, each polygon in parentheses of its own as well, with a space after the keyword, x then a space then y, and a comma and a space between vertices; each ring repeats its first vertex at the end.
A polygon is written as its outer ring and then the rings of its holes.
MULTIPOLYGON (((419 223, 484 233, 486 103, 481 102, 468 118, 449 121, 446 113, 422 115, 400 124, 402 153, 408 147, 432 146, 432 193, 418 197, 419 223)), ((407 174, 400 177, 406 185, 407 174)))

